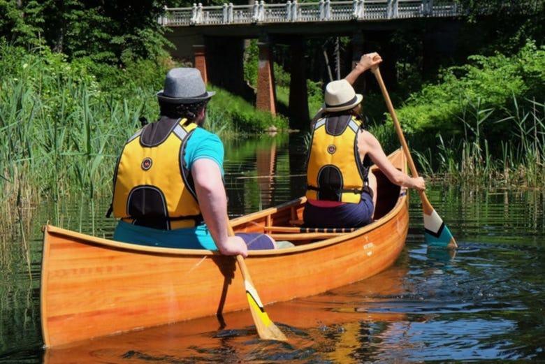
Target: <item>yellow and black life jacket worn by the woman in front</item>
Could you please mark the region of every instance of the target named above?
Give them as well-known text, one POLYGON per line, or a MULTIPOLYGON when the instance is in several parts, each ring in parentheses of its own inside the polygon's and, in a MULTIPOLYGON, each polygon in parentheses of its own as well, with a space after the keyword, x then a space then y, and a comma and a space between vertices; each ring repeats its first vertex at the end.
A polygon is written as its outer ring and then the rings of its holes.
POLYGON ((368 191, 368 168, 358 153, 362 122, 351 115, 328 115, 314 123, 307 157, 307 198, 359 203, 368 191))

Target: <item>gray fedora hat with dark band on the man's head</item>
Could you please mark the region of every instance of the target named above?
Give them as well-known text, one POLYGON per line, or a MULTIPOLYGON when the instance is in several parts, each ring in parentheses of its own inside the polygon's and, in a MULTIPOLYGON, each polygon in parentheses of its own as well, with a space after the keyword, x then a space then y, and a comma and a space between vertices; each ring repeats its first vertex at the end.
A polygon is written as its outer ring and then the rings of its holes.
POLYGON ((197 68, 173 68, 166 74, 164 89, 157 98, 167 103, 198 103, 210 99, 215 92, 206 87, 197 68))

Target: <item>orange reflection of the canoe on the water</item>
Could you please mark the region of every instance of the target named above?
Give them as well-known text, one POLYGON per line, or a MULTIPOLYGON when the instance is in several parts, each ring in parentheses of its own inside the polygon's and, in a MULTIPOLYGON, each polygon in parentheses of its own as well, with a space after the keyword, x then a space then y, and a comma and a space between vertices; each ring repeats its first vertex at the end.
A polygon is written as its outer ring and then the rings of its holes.
MULTIPOLYGON (((404 254, 405 252, 398 259, 403 259, 404 254)), ((350 327, 355 325, 372 326, 380 331, 388 330, 388 326, 395 329, 395 323, 407 322, 409 319, 405 307, 395 310, 389 298, 405 293, 402 278, 407 275, 407 270, 407 265, 396 264, 379 275, 348 286, 316 296, 275 303, 266 307, 267 312, 275 321, 289 323, 289 326, 282 327, 282 330, 289 336, 289 343, 295 348, 309 346, 309 342, 315 339, 312 336, 313 330, 335 328, 337 332, 336 327, 339 325, 348 328, 343 330, 345 333, 346 331, 359 333, 359 330, 350 330, 350 327), (375 324, 377 322, 378 325, 375 324), (290 335, 290 327, 296 334, 290 335), (302 335, 302 332, 309 335, 302 335)), ((228 335, 229 346, 235 349, 239 358, 245 357, 240 351, 246 349, 255 351, 255 345, 247 344, 247 335, 252 335, 250 330, 247 330, 253 325, 252 315, 248 311, 237 311, 225 314, 224 319, 230 328, 224 333, 218 330, 217 318, 207 316, 52 347, 45 350, 43 364, 126 364, 150 361, 187 363, 189 362, 187 358, 195 358, 198 355, 196 351, 210 347, 210 341, 214 340, 212 337, 221 337, 222 334, 228 335)), ((324 353, 324 356, 335 356, 336 349, 345 353, 346 348, 356 346, 355 342, 346 342, 345 333, 339 336, 339 340, 335 340, 334 347, 328 347, 328 352, 324 353)), ((254 356, 252 358, 257 362, 254 356)), ((198 361, 198 358, 194 360, 195 363, 203 361, 198 361)), ((343 360, 330 359, 330 362, 343 363, 343 360)))

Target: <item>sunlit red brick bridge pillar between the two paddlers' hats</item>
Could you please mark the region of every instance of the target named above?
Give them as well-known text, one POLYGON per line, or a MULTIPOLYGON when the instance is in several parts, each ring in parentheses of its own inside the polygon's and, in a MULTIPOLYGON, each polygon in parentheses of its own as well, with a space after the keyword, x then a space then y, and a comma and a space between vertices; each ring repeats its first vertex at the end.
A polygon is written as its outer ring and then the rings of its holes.
POLYGON ((268 43, 257 43, 259 46, 259 61, 257 65, 256 108, 276 115, 276 91, 268 43))

